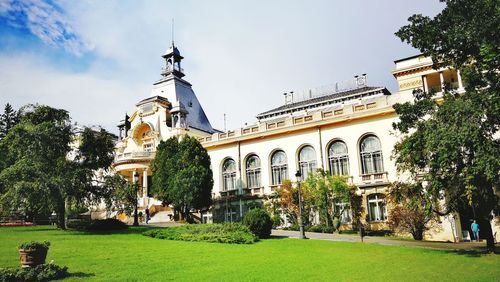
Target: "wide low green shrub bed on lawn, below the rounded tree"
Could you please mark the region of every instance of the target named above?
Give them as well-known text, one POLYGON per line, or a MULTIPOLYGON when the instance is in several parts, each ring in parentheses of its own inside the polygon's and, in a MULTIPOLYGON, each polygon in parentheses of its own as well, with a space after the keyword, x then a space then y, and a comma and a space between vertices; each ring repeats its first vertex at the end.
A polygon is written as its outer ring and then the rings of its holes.
POLYGON ((228 244, 253 244, 258 238, 239 223, 192 224, 163 229, 151 229, 145 236, 178 241, 204 241, 228 244))

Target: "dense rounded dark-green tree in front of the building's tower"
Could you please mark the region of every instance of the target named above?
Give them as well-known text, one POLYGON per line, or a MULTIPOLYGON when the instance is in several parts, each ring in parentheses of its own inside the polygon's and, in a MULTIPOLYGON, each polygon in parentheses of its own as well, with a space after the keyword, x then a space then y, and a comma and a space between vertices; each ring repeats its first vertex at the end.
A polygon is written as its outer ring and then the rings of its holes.
POLYGON ((213 178, 210 156, 194 137, 172 137, 160 142, 152 163, 153 195, 172 205, 188 222, 192 209, 208 209, 213 178))

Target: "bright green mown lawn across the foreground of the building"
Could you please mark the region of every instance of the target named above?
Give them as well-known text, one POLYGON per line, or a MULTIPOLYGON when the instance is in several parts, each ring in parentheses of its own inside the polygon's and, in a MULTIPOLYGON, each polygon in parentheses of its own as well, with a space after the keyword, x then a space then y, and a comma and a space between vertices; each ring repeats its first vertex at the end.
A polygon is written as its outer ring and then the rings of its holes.
POLYGON ((67 280, 101 281, 499 281, 500 256, 297 239, 253 245, 159 240, 138 229, 91 235, 52 227, 0 228, 0 267, 18 267, 17 245, 49 240, 48 261, 67 280))

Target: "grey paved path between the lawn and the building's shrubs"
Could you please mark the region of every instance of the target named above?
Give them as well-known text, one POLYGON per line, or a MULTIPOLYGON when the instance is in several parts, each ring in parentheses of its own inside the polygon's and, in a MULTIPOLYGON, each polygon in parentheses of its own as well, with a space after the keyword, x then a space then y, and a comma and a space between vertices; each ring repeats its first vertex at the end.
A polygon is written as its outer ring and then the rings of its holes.
MULTIPOLYGON (((271 235, 299 238, 298 231, 287 230, 273 230, 271 235)), ((313 240, 330 240, 341 242, 361 242, 358 235, 347 234, 329 234, 329 233, 314 233, 306 232, 306 237, 313 240)), ((447 242, 431 242, 431 241, 410 241, 410 240, 397 240, 383 237, 364 237, 366 243, 377 243, 382 245, 398 245, 398 246, 415 246, 441 250, 482 250, 486 247, 486 242, 460 242, 460 243, 447 243, 447 242)))

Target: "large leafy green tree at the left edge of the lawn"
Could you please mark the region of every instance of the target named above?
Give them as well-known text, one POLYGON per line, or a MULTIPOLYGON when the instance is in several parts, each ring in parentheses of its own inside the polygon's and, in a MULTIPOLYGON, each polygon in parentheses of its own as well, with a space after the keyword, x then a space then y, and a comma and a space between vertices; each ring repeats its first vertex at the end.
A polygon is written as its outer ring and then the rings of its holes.
POLYGON ((31 106, 0 141, 2 210, 27 216, 56 211, 58 226, 65 228, 68 203, 98 202, 105 196, 95 171, 109 167, 112 137, 90 131, 77 137, 67 111, 31 106))

